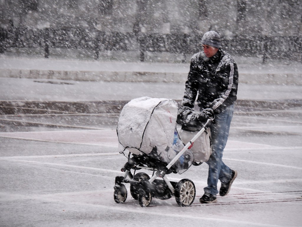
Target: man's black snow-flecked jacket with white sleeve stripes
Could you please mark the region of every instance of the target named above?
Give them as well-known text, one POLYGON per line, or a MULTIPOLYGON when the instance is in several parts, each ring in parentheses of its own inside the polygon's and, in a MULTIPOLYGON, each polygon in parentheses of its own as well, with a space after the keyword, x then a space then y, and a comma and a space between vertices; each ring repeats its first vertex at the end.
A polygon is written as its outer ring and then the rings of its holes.
POLYGON ((213 57, 207 58, 203 51, 199 52, 191 59, 182 107, 193 108, 198 94, 200 111, 212 108, 215 114, 220 113, 235 103, 237 87, 237 64, 230 54, 220 48, 213 57))

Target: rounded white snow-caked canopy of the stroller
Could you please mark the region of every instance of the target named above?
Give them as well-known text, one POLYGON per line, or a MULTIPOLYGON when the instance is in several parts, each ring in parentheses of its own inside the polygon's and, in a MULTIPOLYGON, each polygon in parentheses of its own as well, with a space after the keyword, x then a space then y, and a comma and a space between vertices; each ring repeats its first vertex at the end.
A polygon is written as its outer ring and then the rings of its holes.
POLYGON ((131 100, 121 111, 117 124, 120 149, 149 154, 156 146, 160 154, 167 146, 171 147, 177 109, 172 99, 141 97, 131 100))

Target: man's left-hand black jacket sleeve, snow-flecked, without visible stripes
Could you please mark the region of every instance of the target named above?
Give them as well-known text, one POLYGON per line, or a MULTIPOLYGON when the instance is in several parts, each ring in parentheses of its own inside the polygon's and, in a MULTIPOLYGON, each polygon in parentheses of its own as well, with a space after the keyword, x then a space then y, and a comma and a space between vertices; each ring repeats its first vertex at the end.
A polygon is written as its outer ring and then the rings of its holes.
POLYGON ((195 99, 198 93, 198 64, 193 56, 190 64, 188 79, 185 83, 185 94, 182 98, 182 107, 194 107, 195 99))

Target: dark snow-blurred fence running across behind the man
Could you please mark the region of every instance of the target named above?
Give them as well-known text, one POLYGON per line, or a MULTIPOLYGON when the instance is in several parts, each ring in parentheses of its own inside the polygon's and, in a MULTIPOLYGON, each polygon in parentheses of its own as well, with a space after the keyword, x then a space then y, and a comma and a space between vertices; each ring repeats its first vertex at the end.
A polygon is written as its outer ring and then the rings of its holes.
MULTIPOLYGON (((50 48, 90 49, 94 59, 100 51, 140 51, 140 61, 145 61, 146 52, 170 52, 193 54, 201 50, 201 35, 189 34, 142 34, 142 33, 105 33, 83 28, 0 28, 0 53, 7 48, 43 48, 44 57, 50 55, 50 48), (136 43, 137 45, 133 45, 136 43)), ((222 37, 222 47, 242 56, 262 56, 267 58, 290 57, 296 53, 302 60, 302 37, 297 36, 233 36, 222 37)))

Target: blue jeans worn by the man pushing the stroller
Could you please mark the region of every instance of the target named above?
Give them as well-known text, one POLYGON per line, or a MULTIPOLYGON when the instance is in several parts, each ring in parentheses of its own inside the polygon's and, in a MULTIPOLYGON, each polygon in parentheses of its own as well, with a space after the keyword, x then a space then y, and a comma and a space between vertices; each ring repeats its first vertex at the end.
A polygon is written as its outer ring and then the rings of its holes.
POLYGON ((216 195, 218 193, 218 179, 227 183, 232 176, 232 170, 222 161, 223 149, 229 137, 230 124, 233 117, 234 105, 227 107, 221 113, 215 115, 216 123, 211 126, 212 154, 206 162, 209 165, 207 179, 208 186, 204 188, 205 193, 216 195))

